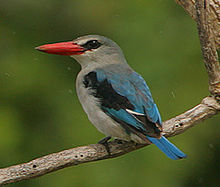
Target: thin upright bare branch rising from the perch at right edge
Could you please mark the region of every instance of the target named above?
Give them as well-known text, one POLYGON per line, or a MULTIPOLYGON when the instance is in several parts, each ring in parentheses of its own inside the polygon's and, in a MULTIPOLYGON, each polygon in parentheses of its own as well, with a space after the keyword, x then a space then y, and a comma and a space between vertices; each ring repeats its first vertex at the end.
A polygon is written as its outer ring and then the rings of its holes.
MULTIPOLYGON (((213 33, 213 20, 209 0, 196 0, 196 17, 199 39, 205 67, 209 76, 209 91, 217 98, 220 97, 220 66, 213 33)), ((219 6, 220 10, 220 6, 219 6)), ((220 20, 219 20, 220 21, 220 20)), ((220 28, 220 25, 218 24, 220 28)), ((219 30, 220 34, 220 30, 219 30)))

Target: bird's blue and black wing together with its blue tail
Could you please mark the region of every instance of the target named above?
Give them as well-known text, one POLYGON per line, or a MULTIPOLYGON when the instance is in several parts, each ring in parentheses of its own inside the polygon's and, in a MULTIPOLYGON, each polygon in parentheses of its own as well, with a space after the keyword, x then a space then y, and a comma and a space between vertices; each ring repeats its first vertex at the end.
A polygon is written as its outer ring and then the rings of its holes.
POLYGON ((161 117, 144 79, 136 72, 97 69, 84 77, 84 85, 99 98, 101 109, 125 128, 147 138, 171 159, 186 155, 165 137, 161 137, 161 117), (118 72, 117 72, 118 71, 118 72), (143 136, 144 135, 144 136, 143 136))

